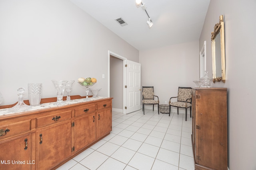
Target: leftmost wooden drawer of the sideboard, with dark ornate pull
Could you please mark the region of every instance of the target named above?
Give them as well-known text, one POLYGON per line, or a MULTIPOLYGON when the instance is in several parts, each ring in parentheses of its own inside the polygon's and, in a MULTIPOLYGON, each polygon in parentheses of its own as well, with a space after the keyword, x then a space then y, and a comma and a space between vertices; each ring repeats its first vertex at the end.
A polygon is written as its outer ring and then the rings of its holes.
POLYGON ((31 130, 31 119, 0 125, 0 139, 31 130), (6 129, 7 128, 7 129, 6 129), (4 132, 5 131, 5 132, 4 132))

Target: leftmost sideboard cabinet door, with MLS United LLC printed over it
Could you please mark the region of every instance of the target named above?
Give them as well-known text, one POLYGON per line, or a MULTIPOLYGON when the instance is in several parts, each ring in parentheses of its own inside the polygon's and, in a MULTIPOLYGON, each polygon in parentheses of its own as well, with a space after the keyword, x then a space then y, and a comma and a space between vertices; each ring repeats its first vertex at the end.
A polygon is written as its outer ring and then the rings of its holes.
POLYGON ((32 155, 31 134, 0 142, 1 170, 31 170, 35 160, 32 155))

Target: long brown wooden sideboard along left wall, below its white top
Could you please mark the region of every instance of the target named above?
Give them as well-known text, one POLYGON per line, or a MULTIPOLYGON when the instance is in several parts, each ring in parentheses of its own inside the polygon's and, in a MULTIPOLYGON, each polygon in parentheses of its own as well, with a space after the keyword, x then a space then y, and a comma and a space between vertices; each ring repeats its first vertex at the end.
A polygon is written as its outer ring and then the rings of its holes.
POLYGON ((0 169, 55 169, 110 134, 112 98, 1 115, 0 129, 0 169))

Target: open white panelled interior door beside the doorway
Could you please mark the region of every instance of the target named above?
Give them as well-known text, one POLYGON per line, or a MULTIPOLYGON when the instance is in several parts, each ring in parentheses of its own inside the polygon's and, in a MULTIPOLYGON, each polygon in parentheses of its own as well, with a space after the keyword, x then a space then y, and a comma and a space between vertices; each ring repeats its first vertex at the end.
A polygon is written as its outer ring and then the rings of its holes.
POLYGON ((140 110, 140 63, 126 60, 126 114, 140 110))

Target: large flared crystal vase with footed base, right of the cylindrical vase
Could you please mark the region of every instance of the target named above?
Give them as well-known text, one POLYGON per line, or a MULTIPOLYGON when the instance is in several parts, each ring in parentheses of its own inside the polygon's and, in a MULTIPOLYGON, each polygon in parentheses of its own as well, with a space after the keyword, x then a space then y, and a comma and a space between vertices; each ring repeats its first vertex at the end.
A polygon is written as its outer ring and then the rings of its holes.
POLYGON ((68 80, 52 80, 52 83, 54 84, 56 88, 57 93, 57 102, 55 102, 53 105, 63 105, 63 94, 65 90, 65 86, 67 84, 68 80))

